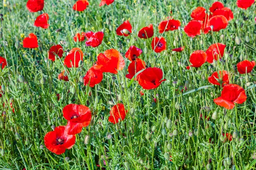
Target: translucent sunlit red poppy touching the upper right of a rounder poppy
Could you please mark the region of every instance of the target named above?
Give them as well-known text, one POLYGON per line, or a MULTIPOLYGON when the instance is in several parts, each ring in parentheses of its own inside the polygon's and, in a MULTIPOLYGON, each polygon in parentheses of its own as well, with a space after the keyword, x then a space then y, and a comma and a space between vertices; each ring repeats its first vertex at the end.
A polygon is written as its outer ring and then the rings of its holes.
POLYGON ((212 63, 213 59, 218 60, 221 59, 224 55, 226 45, 217 43, 212 44, 206 51, 207 54, 207 62, 212 63))

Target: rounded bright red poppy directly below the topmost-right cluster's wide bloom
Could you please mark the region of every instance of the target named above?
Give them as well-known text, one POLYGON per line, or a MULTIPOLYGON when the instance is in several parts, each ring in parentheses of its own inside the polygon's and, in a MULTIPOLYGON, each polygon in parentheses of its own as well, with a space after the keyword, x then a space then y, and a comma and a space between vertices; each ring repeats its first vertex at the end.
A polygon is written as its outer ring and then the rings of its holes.
POLYGON ((228 21, 223 15, 216 15, 208 20, 207 27, 209 31, 220 31, 221 29, 227 28, 228 21), (211 28, 213 26, 213 28, 211 28))

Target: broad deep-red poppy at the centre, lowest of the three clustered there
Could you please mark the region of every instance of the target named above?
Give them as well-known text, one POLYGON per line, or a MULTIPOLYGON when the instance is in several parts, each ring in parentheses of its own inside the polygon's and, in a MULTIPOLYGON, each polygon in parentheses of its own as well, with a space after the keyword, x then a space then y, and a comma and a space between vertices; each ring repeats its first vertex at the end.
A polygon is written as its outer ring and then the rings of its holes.
POLYGON ((157 67, 146 68, 139 76, 138 82, 143 89, 150 90, 157 88, 163 81, 163 71, 157 67))

